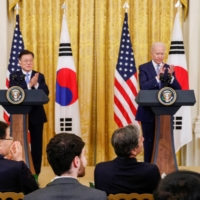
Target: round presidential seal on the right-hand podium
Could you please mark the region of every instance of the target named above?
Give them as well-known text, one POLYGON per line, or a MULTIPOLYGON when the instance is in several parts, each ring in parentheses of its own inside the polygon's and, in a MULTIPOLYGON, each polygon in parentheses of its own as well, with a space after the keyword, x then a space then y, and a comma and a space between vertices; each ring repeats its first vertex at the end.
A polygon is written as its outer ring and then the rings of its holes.
POLYGON ((176 91, 170 87, 164 87, 158 92, 158 101, 165 106, 172 105, 176 98, 176 91))

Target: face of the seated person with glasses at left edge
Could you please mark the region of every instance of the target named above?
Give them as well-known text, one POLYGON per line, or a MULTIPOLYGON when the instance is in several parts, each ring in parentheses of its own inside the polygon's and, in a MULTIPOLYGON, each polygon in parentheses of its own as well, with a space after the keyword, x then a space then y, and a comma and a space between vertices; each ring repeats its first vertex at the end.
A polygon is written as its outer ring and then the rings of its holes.
POLYGON ((10 137, 10 128, 6 129, 6 138, 5 140, 1 140, 1 145, 0 145, 0 154, 3 156, 6 156, 10 152, 10 146, 13 143, 12 138, 10 137))

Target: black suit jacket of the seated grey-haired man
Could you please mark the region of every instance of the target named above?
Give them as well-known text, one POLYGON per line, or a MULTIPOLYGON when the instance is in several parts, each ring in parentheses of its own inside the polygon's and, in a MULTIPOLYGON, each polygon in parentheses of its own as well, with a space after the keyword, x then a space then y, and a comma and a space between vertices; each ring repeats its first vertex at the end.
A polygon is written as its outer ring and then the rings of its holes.
POLYGON ((94 181, 95 188, 105 191, 107 195, 153 193, 160 181, 160 172, 154 164, 117 157, 96 165, 94 181))

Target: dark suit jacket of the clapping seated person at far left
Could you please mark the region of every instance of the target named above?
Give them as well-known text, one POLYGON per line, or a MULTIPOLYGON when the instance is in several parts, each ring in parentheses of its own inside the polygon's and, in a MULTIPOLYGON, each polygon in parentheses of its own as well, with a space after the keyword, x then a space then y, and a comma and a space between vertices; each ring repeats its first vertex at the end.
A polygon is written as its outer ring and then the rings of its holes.
POLYGON ((38 189, 30 170, 23 161, 4 159, 0 155, 0 192, 24 192, 38 189))

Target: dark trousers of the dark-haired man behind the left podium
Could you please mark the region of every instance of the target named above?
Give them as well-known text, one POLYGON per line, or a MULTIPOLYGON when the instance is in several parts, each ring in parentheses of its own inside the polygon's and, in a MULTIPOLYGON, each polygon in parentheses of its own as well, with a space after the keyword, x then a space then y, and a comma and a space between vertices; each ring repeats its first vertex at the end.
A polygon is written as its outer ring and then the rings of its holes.
POLYGON ((33 159, 33 165, 35 173, 39 174, 42 164, 42 132, 43 124, 33 125, 29 121, 29 131, 31 137, 31 155, 33 159))

